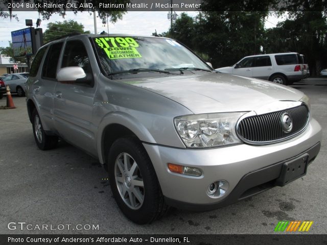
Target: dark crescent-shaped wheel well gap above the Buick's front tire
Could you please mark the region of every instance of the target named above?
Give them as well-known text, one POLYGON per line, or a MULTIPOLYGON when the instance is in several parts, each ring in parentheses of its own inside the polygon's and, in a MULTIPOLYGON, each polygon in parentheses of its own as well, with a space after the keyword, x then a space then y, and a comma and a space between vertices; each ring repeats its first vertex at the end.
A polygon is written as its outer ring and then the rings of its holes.
MULTIPOLYGON (((120 124, 111 124, 104 129, 104 132, 102 134, 102 147, 105 165, 107 165, 108 162, 108 154, 112 143, 116 139, 126 136, 133 136, 137 138, 137 136, 131 130, 120 124)), ((105 167, 105 169, 107 170, 107 167, 105 167)))

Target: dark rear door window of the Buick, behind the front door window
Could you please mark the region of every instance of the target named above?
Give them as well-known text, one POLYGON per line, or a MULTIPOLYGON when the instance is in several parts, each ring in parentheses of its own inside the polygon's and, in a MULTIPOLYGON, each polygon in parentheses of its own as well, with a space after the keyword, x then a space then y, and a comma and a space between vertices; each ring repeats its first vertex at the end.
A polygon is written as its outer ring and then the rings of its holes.
POLYGON ((56 79, 57 65, 59 61, 59 56, 62 48, 62 42, 55 43, 50 46, 48 54, 46 54, 42 77, 56 79))

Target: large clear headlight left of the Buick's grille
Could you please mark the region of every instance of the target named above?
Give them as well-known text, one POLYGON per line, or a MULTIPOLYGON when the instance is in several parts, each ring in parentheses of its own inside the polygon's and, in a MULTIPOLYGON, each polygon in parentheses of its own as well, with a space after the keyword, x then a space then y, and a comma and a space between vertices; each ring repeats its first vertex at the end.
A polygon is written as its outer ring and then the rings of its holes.
POLYGON ((236 135, 236 123, 246 112, 213 113, 174 118, 177 133, 190 148, 208 148, 242 141, 236 135))

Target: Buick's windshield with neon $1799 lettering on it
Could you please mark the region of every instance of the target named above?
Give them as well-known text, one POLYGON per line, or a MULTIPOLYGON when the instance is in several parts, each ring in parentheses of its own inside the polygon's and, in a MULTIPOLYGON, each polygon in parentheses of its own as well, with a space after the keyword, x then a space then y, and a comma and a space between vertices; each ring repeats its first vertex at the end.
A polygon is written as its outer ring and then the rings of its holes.
POLYGON ((106 75, 140 68, 143 71, 176 68, 209 70, 208 66, 188 48, 174 40, 126 36, 97 37, 93 40, 106 75))

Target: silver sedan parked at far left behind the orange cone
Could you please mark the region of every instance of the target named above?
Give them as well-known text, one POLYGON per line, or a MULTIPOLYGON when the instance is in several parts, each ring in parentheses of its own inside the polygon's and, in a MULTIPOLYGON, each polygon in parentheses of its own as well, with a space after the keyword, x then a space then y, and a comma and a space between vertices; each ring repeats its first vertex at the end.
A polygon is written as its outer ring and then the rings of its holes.
POLYGON ((14 73, 6 76, 3 81, 10 88, 10 93, 25 96, 25 83, 29 77, 28 73, 14 73))

